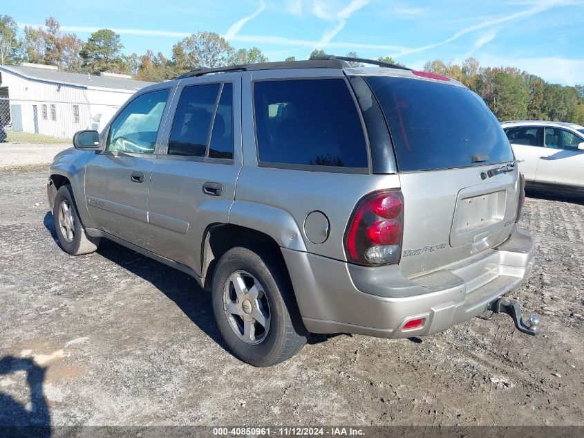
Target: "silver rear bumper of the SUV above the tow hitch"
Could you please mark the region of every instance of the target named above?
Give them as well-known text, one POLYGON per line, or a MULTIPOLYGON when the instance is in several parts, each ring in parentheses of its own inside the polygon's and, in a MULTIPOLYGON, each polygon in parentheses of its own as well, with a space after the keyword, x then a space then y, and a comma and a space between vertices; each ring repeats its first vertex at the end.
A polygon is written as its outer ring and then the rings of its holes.
POLYGON ((527 281, 534 265, 531 235, 515 228, 496 249, 412 280, 398 266, 362 268, 282 249, 308 331, 383 338, 425 336, 479 316, 490 302, 527 281), (424 326, 402 330, 409 320, 424 326))

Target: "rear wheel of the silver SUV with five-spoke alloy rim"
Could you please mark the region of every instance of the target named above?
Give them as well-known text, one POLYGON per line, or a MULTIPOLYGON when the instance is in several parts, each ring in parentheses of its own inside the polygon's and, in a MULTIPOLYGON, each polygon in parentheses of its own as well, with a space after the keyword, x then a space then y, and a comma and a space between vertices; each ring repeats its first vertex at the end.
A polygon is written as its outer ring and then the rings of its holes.
POLYGON ((292 285, 278 258, 236 247, 219 259, 212 302, 221 336, 234 356, 254 367, 291 358, 307 340, 292 285))

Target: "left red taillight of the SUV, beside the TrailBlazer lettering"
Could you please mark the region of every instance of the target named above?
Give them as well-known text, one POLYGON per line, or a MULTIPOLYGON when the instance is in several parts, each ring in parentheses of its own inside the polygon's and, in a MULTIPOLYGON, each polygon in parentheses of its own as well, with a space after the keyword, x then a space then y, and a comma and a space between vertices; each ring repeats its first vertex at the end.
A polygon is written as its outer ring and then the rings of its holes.
POLYGON ((402 255, 404 197, 399 190, 384 190, 361 199, 351 215, 345 235, 350 262, 393 264, 402 255))

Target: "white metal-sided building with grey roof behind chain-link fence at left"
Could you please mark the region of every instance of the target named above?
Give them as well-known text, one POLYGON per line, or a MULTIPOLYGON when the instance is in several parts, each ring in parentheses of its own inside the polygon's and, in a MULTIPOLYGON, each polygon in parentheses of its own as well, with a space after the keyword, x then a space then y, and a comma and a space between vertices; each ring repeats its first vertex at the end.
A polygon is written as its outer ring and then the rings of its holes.
POLYGON ((15 132, 71 138, 100 131, 128 98, 151 84, 129 75, 64 73, 55 66, 0 65, 0 124, 15 132))

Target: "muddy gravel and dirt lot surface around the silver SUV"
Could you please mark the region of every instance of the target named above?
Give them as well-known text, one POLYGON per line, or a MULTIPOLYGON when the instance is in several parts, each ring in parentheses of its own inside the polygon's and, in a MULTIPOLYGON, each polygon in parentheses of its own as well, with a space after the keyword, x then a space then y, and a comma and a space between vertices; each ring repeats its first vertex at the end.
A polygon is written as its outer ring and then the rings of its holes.
POLYGON ((109 241, 62 252, 45 183, 0 170, 0 424, 584 424, 583 201, 527 199, 538 262, 515 297, 542 336, 506 316, 421 343, 315 336, 256 369, 187 275, 109 241))

